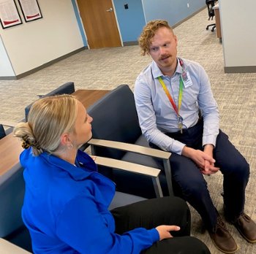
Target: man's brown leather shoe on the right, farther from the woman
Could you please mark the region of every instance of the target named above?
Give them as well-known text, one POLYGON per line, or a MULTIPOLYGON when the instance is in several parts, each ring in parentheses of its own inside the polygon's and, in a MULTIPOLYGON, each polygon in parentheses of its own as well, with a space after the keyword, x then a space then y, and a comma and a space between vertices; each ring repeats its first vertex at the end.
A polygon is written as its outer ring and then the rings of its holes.
POLYGON ((256 224, 248 215, 243 213, 233 224, 246 241, 256 242, 256 224))

